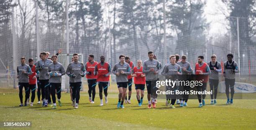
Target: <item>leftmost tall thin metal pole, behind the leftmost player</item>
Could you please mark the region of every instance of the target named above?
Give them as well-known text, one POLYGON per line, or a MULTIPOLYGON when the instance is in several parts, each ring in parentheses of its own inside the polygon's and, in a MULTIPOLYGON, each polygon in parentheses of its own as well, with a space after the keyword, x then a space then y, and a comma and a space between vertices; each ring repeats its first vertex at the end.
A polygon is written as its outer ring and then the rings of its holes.
MULTIPOLYGON (((12 12, 14 12, 14 7, 12 7, 12 12)), ((16 67, 16 41, 15 41, 15 23, 14 23, 14 14, 12 13, 12 30, 13 30, 13 88, 16 88, 15 85, 15 67, 16 67)))

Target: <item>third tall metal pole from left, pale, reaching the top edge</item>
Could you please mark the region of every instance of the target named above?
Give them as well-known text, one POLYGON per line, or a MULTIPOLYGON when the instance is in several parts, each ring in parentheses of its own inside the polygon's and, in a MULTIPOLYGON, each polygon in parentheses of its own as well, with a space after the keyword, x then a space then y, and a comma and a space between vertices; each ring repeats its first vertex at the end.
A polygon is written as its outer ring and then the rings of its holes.
MULTIPOLYGON (((66 63, 66 68, 69 64, 69 0, 66 0, 66 29, 67 29, 67 63, 66 63)), ((67 82, 69 77, 66 75, 65 80, 65 86, 67 87, 67 92, 69 93, 69 83, 67 82)))

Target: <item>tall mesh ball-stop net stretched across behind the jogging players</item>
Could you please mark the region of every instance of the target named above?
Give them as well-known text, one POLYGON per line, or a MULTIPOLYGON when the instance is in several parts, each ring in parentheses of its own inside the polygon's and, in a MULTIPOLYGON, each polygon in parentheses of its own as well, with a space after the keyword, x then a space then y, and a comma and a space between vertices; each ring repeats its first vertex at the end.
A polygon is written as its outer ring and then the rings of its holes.
MULTIPOLYGON (((94 54, 97 62, 103 55, 113 67, 119 62, 120 54, 130 56, 131 61, 136 65, 138 59, 142 61, 148 59, 148 51, 151 50, 163 66, 169 62, 169 55, 187 55, 187 61, 191 63, 192 68, 195 67, 199 55, 205 56, 205 61, 210 61, 210 56, 216 54, 217 60, 224 63, 227 61, 226 55, 232 53, 233 59, 240 66, 241 74, 256 74, 256 37, 254 36, 256 29, 251 25, 256 21, 255 18, 210 15, 202 10, 176 6, 167 1, 165 47, 161 3, 141 5, 138 10, 130 10, 122 2, 109 6, 100 3, 102 6, 97 10, 96 16, 93 11, 84 13, 78 3, 71 1, 67 56, 65 1, 61 0, 59 4, 61 6, 59 11, 62 11, 59 14, 47 13, 42 7, 44 5, 39 5, 38 15, 36 15, 36 6, 31 4, 30 14, 26 16, 25 22, 22 13, 18 13, 19 6, 14 7, 14 10, 7 9, 14 13, 0 10, 1 88, 13 88, 13 78, 16 73, 14 69, 20 64, 21 56, 38 60, 40 52, 56 54, 59 49, 62 49, 59 62, 65 66, 65 69, 73 53, 79 53, 79 61, 84 63, 89 54, 94 54), (102 11, 103 9, 109 12, 102 11), (164 48, 167 50, 166 54, 164 48), (164 59, 164 55, 167 59, 164 59)), ((96 8, 99 3, 93 6, 96 8)), ((68 77, 62 78, 65 81, 63 90, 67 90, 68 77)), ((83 81, 85 86, 86 79, 84 78, 83 81)), ((115 84, 114 76, 111 81, 115 84)), ((15 83, 17 86, 17 79, 15 83)), ((84 87, 84 90, 86 91, 87 87, 84 87)), ((117 91, 117 88, 110 91, 117 91)))

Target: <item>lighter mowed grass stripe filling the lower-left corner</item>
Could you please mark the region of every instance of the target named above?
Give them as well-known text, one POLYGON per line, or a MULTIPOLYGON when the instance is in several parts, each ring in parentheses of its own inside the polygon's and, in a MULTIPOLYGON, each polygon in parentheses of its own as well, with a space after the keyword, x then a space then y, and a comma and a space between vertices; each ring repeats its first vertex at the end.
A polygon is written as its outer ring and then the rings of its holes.
MULTIPOLYGON (((129 123, 90 118, 81 115, 56 113, 49 110, 24 110, 21 107, 9 107, 0 105, 1 121, 32 121, 33 130, 147 130, 145 125, 134 125, 129 123)), ((28 128, 1 128, 1 130, 28 128)), ((160 130, 160 128, 154 128, 160 130)))

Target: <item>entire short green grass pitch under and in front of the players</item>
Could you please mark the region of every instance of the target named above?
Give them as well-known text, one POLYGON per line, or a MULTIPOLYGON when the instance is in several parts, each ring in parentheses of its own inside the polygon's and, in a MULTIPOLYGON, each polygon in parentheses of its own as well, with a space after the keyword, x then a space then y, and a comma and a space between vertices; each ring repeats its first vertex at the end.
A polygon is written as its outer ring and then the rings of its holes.
MULTIPOLYGON (((24 95, 23 95, 24 97, 24 95)), ((117 109, 117 93, 109 93, 109 103, 99 106, 98 93, 95 103, 88 101, 88 94, 82 93, 78 109, 71 105, 69 93, 62 93, 62 107, 52 110, 35 104, 33 107, 18 107, 18 93, 0 95, 0 121, 31 121, 33 130, 253 130, 256 128, 256 100, 217 100, 217 105, 198 108, 197 100, 189 100, 187 107, 176 105, 175 109, 165 106, 165 100, 158 100, 157 108, 148 109, 146 96, 139 107, 135 93, 131 104, 117 109)), ((35 99, 35 103, 37 97, 35 99)), ((10 129, 10 128, 0 128, 10 129)), ((20 129, 20 128, 11 128, 20 129)), ((22 128, 27 129, 27 128, 22 128)))

